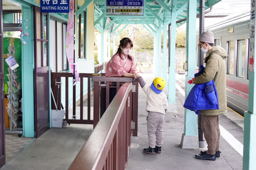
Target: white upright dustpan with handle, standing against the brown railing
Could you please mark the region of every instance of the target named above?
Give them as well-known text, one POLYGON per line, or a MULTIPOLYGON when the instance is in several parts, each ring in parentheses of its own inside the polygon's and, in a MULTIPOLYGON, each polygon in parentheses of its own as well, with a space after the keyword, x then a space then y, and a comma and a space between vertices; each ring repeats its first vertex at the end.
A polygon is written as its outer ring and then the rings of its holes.
MULTIPOLYGON (((65 110, 58 110, 54 96, 53 96, 53 90, 51 88, 51 93, 52 93, 52 97, 53 97, 53 102, 55 105, 55 109, 52 109, 52 127, 62 127, 62 123, 63 123, 63 117, 65 114, 65 110)), ((57 96, 58 97, 58 96, 57 96)))

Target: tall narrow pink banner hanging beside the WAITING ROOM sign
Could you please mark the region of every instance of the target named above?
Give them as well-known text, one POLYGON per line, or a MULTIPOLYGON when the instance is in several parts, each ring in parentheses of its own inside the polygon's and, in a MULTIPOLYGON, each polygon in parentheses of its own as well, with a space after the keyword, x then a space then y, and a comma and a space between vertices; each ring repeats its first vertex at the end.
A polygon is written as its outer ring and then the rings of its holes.
MULTIPOLYGON (((74 0, 70 0, 70 8, 69 8, 69 18, 68 18, 68 25, 67 25, 67 38, 66 38, 66 55, 68 58, 70 71, 74 74, 74 27, 75 27, 75 3, 74 0)), ((73 86, 80 81, 79 73, 76 70, 75 65, 75 82, 73 86)))

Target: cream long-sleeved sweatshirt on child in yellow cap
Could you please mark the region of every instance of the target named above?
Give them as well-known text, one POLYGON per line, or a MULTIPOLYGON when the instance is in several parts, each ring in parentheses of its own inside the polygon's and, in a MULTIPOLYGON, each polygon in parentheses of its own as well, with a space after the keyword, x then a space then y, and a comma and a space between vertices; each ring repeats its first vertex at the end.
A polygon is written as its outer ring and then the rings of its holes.
POLYGON ((142 90, 147 94, 147 112, 159 112, 165 114, 165 109, 168 109, 168 100, 165 93, 160 94, 154 92, 141 76, 138 78, 142 90))

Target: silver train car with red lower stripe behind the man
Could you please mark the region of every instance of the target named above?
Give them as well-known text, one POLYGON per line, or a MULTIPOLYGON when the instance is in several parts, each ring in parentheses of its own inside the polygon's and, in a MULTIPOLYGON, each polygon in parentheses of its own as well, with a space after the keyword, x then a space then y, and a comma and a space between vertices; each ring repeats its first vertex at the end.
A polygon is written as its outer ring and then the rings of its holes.
MULTIPOLYGON (((226 49, 227 106, 244 116, 248 110, 250 11, 205 28, 214 34, 215 46, 226 49)), ((199 33, 197 33, 197 40, 199 33)), ((198 41, 196 42, 198 44, 198 41)), ((198 46, 197 46, 198 60, 198 46)), ((205 57, 205 55, 204 55, 205 57)), ((197 64, 198 66, 198 64, 197 64)))

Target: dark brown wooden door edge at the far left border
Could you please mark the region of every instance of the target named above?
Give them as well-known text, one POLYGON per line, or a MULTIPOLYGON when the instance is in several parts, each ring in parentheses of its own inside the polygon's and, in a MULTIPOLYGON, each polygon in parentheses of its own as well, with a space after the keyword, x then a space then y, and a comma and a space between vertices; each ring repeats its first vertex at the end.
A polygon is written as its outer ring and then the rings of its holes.
POLYGON ((3 10, 0 0, 0 168, 5 164, 3 10))

